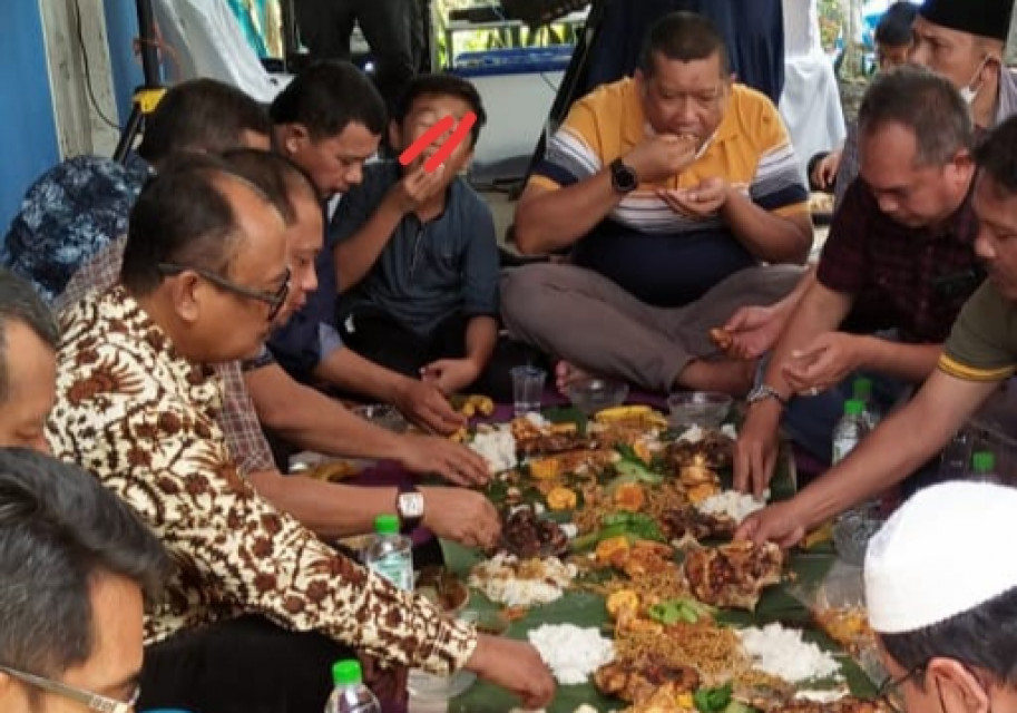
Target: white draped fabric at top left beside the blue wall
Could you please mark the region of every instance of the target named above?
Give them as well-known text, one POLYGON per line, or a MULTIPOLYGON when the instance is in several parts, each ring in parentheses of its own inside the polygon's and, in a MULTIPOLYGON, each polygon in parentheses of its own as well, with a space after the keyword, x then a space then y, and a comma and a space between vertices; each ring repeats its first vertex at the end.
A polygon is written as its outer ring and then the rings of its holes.
POLYGON ((285 79, 265 71, 225 0, 153 0, 174 81, 209 77, 270 102, 285 79))

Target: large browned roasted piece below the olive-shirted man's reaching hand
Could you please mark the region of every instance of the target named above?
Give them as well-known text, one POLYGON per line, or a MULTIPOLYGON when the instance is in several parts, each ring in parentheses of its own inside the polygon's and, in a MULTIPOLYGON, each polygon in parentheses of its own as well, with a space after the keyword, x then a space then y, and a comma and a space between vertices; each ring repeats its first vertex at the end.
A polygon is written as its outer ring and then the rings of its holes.
POLYGON ((781 580, 783 561, 773 543, 735 541, 690 550, 685 577, 701 602, 751 612, 763 589, 781 580))

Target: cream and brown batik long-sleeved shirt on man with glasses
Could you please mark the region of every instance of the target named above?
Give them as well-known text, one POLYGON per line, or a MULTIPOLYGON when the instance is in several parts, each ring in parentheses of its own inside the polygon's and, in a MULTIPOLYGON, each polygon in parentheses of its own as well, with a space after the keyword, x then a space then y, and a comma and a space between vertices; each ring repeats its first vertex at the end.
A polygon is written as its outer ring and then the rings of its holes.
POLYGON ((53 453, 130 504, 177 564, 148 643, 258 613, 391 663, 466 663, 471 627, 338 554, 238 476, 216 422, 218 379, 123 287, 87 296, 62 326, 53 453))

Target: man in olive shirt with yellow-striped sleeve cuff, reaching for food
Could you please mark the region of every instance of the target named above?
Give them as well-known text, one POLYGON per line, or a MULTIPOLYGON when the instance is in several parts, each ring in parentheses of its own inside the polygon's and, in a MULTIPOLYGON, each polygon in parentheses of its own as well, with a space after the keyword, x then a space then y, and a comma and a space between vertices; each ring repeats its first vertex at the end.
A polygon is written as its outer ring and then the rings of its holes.
POLYGON ((790 547, 806 530, 903 480, 1017 370, 1017 117, 975 150, 975 252, 988 280, 965 303, 938 368, 907 406, 791 500, 750 516, 739 537, 790 547))

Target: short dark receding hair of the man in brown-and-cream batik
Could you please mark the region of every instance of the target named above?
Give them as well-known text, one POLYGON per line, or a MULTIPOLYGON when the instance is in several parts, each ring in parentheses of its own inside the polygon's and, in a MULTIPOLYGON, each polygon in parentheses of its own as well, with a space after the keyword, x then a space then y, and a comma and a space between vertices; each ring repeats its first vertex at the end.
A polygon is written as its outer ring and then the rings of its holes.
POLYGON ((237 219, 221 184, 231 178, 280 209, 251 172, 214 156, 175 156, 148 180, 130 212, 120 267, 124 286, 135 295, 149 294, 163 280, 160 263, 228 272, 237 219))

